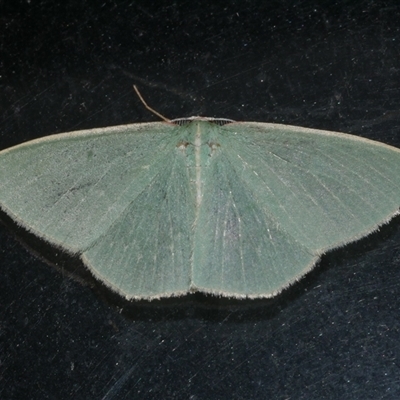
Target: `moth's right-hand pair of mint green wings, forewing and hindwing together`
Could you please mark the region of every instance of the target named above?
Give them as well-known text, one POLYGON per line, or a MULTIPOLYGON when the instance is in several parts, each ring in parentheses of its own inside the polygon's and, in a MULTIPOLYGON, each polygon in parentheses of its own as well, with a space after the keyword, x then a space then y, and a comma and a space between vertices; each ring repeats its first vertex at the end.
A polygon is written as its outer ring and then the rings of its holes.
POLYGON ((398 213, 400 150, 353 135, 232 123, 211 140, 194 286, 270 297, 398 213))

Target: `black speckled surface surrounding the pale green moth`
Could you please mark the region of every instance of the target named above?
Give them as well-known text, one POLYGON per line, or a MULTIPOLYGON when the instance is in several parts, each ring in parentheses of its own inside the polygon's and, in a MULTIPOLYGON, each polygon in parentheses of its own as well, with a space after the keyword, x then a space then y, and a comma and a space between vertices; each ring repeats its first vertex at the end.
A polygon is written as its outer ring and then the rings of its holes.
MULTIPOLYGON (((398 1, 55 3, 0 0, 1 149, 157 120, 134 83, 169 118, 400 147, 398 1)), ((329 253, 270 301, 132 306, 0 225, 0 398, 399 399, 399 222, 329 253)))

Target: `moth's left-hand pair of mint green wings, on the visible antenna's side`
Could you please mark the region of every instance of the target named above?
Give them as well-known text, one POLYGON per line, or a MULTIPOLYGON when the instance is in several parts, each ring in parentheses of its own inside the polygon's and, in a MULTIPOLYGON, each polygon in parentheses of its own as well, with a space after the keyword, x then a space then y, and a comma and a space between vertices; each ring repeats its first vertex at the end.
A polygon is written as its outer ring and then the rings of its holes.
MULTIPOLYGON (((185 132, 183 132, 185 133, 185 132)), ((194 220, 182 129, 133 124, 0 153, 0 205, 127 298, 187 292, 194 220)))

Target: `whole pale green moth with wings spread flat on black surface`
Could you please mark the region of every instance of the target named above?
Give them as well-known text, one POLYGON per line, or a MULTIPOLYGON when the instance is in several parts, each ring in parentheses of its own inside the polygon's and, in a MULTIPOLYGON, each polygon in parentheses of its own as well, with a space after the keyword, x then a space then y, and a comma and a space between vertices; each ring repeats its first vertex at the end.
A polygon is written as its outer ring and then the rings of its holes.
POLYGON ((0 207, 127 299, 271 297, 398 214, 400 150, 191 117, 0 152, 0 207))

